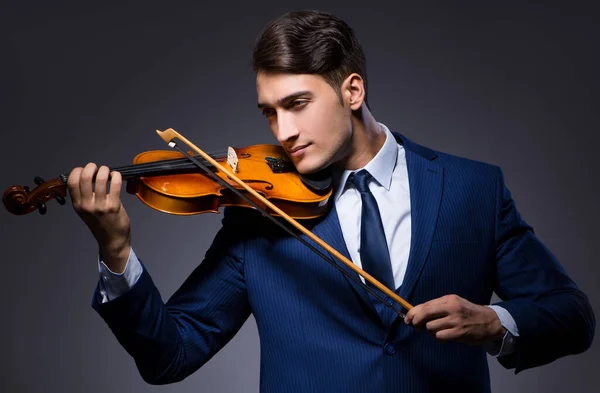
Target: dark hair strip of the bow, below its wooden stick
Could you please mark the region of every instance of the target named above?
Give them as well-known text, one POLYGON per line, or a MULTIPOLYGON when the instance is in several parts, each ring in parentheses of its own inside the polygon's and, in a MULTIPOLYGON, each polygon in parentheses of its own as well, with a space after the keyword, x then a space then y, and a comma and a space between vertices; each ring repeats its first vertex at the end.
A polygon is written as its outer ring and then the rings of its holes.
POLYGON ((405 317, 405 314, 402 311, 397 310, 392 304, 389 304, 379 293, 377 293, 375 291, 377 288, 369 287, 368 285, 366 285, 365 283, 363 283, 357 276, 355 276, 355 275, 347 272, 346 270, 344 270, 341 266, 339 266, 337 263, 335 263, 335 261, 333 261, 332 259, 330 259, 327 256, 325 256, 325 254, 323 254, 321 251, 317 250, 312 244, 308 243, 305 239, 303 239, 302 237, 300 237, 299 234, 297 234, 296 232, 294 232, 288 225, 285 225, 284 222, 282 222, 282 221, 278 220, 277 218, 273 217, 265 209, 263 209, 262 207, 260 207, 258 204, 256 204, 254 201, 252 201, 250 198, 248 198, 240 190, 236 189, 231 184, 227 183, 226 181, 224 181, 223 179, 221 179, 219 176, 217 176, 216 174, 214 174, 212 171, 208 170, 208 168, 203 163, 201 163, 195 157, 192 157, 191 155, 189 155, 188 153, 186 153, 185 151, 183 151, 183 149, 181 149, 179 146, 177 146, 177 144, 175 142, 171 141, 171 144, 172 144, 173 148, 177 149, 182 154, 184 154, 188 159, 190 159, 200 169, 202 169, 203 171, 205 171, 206 173, 208 173, 208 175, 211 176, 221 186, 227 187, 229 190, 231 190, 232 192, 234 192, 237 196, 239 196, 240 198, 242 198, 243 200, 245 200, 246 202, 248 202, 250 205, 252 205, 253 207, 255 207, 259 212, 261 212, 263 214, 263 216, 267 217, 272 222, 274 222, 275 224, 277 224, 280 228, 282 228, 283 230, 285 230, 286 232, 288 232, 290 235, 294 236, 302 244, 304 244, 305 246, 307 246, 311 251, 313 251, 315 254, 319 255, 325 261, 329 262, 329 264, 331 266, 333 266, 334 268, 336 268, 337 270, 339 270, 346 277, 348 277, 351 280, 353 280, 360 287, 362 287, 363 289, 365 289, 367 292, 369 292, 371 295, 373 295, 375 298, 377 298, 379 301, 381 301, 386 307, 390 308, 392 311, 394 311, 400 317, 402 317, 402 318, 405 317))

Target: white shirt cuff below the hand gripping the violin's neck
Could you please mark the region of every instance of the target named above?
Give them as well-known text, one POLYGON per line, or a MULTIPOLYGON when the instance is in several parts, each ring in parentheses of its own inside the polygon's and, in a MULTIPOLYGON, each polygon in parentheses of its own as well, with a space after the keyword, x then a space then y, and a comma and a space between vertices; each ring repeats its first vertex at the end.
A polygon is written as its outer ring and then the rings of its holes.
POLYGON ((125 270, 115 273, 106 266, 98 256, 98 271, 100 273, 99 291, 102 303, 107 303, 129 291, 142 275, 143 267, 135 255, 133 248, 129 248, 129 257, 125 270))

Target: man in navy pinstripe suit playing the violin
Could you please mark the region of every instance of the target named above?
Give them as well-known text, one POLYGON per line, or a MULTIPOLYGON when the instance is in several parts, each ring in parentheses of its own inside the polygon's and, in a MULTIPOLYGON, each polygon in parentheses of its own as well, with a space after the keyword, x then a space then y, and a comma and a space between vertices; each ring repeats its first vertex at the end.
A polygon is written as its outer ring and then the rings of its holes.
POLYGON ((258 107, 297 170, 332 170, 331 210, 305 225, 414 307, 399 317, 244 208, 226 209, 165 304, 131 247, 120 174, 90 163, 68 185, 99 245, 93 307, 144 380, 190 375, 250 313, 265 392, 486 392, 487 353, 520 372, 591 345, 586 296, 521 219, 500 169, 374 119, 364 54, 343 21, 285 14, 253 60, 258 107), (489 305, 494 292, 503 301, 489 305))

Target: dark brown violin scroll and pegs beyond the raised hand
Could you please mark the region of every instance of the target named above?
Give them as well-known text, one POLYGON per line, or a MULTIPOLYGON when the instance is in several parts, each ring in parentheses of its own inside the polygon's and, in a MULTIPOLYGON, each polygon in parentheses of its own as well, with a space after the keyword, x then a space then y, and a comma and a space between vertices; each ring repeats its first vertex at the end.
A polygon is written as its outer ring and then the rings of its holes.
POLYGON ((2 196, 2 203, 10 213, 23 215, 37 210, 40 214, 46 214, 46 202, 56 199, 60 205, 66 203, 67 176, 60 175, 57 179, 44 181, 39 176, 33 179, 37 185, 30 190, 27 186, 9 187, 2 196))

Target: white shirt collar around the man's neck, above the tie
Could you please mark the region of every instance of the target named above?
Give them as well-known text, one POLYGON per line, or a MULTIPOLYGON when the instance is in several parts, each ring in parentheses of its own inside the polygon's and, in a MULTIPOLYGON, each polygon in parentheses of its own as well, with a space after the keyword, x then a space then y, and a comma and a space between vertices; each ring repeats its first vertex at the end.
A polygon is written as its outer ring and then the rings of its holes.
POLYGON ((346 188, 348 176, 350 176, 352 172, 358 172, 360 169, 366 169, 381 186, 386 190, 390 189, 392 184, 392 173, 394 172, 396 160, 398 158, 398 147, 396 138, 394 138, 394 135, 392 135, 385 124, 377 124, 385 131, 385 142, 383 143, 383 146, 379 149, 375 157, 373 157, 364 167, 355 170, 344 170, 341 173, 339 171, 334 173, 334 179, 337 180, 336 184, 339 185, 335 189, 334 200, 336 202, 346 188))

